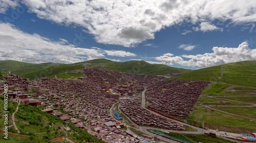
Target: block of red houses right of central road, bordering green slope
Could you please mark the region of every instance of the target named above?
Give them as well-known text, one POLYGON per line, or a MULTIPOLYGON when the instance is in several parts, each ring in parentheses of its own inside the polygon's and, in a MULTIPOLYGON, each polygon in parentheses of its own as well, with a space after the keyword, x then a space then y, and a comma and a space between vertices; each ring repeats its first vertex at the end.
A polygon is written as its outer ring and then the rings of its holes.
POLYGON ((195 105, 205 81, 159 81, 148 85, 145 98, 149 108, 169 116, 186 117, 195 105))

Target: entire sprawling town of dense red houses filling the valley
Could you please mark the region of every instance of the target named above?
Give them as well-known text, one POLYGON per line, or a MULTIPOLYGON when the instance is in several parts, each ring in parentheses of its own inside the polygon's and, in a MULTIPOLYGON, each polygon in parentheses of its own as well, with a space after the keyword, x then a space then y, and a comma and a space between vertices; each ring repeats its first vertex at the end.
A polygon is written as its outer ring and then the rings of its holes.
POLYGON ((143 109, 141 98, 120 100, 120 96, 131 97, 147 87, 145 95, 146 101, 151 103, 149 108, 184 117, 208 84, 201 81, 165 81, 165 77, 156 75, 93 68, 84 69, 83 74, 85 76, 78 79, 56 77, 32 81, 8 74, 5 83, 9 85, 9 97, 19 98, 24 104, 42 105, 45 107, 43 111, 70 121, 81 129, 86 128, 90 134, 106 142, 141 142, 144 139, 120 129, 123 124, 109 115, 109 109, 118 101, 122 112, 138 125, 172 130, 185 128, 143 109), (114 93, 118 98, 111 95, 114 93))

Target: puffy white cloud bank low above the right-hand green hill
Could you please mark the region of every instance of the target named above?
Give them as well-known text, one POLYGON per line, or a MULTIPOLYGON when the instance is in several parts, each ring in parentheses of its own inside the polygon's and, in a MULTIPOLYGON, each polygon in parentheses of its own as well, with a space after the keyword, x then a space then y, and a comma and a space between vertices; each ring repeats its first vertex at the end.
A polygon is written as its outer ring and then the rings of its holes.
POLYGON ((179 64, 189 67, 210 67, 226 63, 256 60, 256 49, 249 48, 247 42, 241 43, 238 47, 213 47, 212 53, 197 55, 174 56, 172 53, 165 53, 155 58, 164 64, 179 64))

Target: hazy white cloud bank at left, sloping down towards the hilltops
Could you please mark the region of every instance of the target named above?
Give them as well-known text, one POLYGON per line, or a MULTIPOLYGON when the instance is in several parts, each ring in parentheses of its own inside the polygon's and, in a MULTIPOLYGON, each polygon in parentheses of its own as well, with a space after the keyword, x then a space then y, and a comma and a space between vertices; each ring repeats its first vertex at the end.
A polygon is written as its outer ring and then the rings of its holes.
POLYGON ((0 60, 30 63, 76 63, 109 56, 136 56, 123 50, 104 50, 97 47, 80 48, 65 39, 53 41, 38 34, 20 31, 12 24, 0 23, 0 60))

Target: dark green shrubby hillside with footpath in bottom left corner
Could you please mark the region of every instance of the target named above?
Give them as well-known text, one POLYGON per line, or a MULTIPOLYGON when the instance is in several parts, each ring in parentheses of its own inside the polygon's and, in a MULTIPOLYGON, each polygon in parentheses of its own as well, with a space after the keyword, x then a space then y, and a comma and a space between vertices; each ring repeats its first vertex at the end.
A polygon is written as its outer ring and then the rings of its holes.
MULTIPOLYGON (((0 96, 0 105, 4 103, 3 95, 0 96)), ((16 102, 9 102, 9 111, 10 114, 16 109, 16 102)), ((0 117, 3 117, 2 115, 0 117)), ((1 126, 4 119, 1 118, 1 126)), ((11 116, 9 116, 9 121, 11 121, 11 116)), ((29 139, 29 142, 49 142, 50 138, 57 137, 60 134, 65 134, 63 127, 65 122, 61 119, 46 113, 42 112, 40 107, 33 107, 30 105, 20 104, 18 111, 15 113, 15 122, 20 131, 20 134, 29 135, 29 137, 24 138, 25 140, 29 139), (52 125, 52 133, 50 133, 50 125, 52 125), (39 133, 39 134, 38 134, 39 133)), ((9 122, 11 125, 12 123, 9 122)), ((78 142, 89 142, 90 140, 95 140, 94 142, 103 142, 98 138, 91 136, 85 130, 81 130, 75 127, 72 123, 68 123, 68 127, 71 129, 68 131, 68 136, 77 140, 78 142)), ((3 127, 1 127, 3 128, 3 127)), ((17 133, 14 127, 9 127, 9 132, 17 133)), ((17 142, 22 140, 17 140, 16 136, 10 136, 9 142, 17 142)), ((1 136, 0 142, 6 141, 1 136)), ((23 141, 24 142, 24 141, 23 141)))

